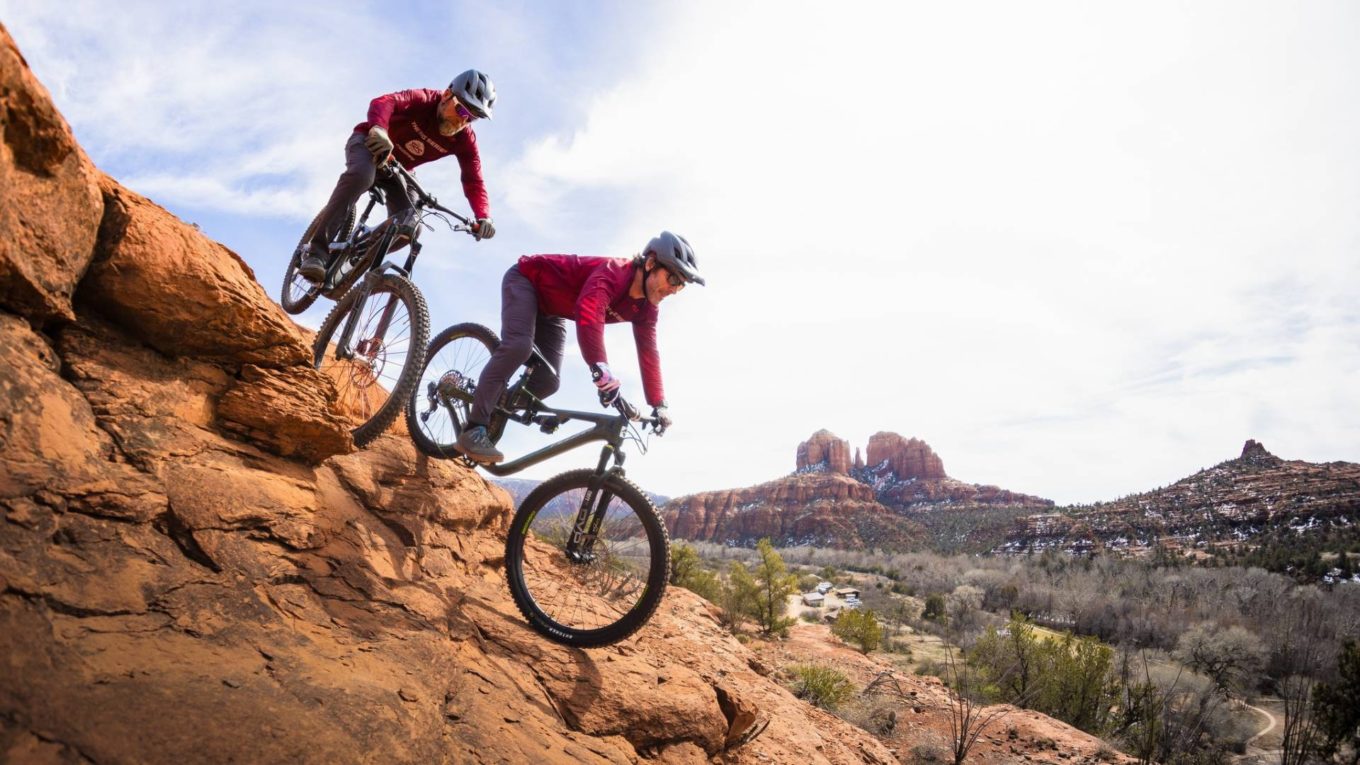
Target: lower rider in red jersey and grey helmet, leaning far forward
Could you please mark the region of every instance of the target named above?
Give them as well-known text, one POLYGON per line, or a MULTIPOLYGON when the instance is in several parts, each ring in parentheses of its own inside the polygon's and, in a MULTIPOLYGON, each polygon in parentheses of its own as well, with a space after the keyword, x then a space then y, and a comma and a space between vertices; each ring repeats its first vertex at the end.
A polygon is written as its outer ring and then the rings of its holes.
POLYGON ((590 366, 600 403, 619 400, 619 378, 609 372, 604 353, 604 325, 632 323, 642 368, 642 388, 651 417, 661 429, 670 426, 661 387, 657 354, 657 306, 688 283, 703 284, 694 248, 684 237, 661 231, 635 257, 579 257, 575 255, 526 255, 506 271, 500 282, 500 344, 481 370, 468 414, 468 427, 457 446, 468 459, 496 463, 505 459, 487 434, 487 423, 506 382, 529 359, 534 344, 552 365, 540 369, 526 388, 544 399, 558 389, 558 373, 566 343, 564 319, 577 323, 577 343, 590 366))

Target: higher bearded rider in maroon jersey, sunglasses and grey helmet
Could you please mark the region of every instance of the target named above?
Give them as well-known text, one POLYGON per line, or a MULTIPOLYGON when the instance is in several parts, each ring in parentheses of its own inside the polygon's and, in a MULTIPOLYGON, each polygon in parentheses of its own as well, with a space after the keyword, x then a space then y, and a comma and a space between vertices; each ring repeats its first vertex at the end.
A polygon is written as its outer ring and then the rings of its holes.
MULTIPOLYGON (((344 147, 345 170, 340 174, 330 200, 321 210, 321 225, 313 233, 298 274, 310 282, 326 275, 326 242, 335 238, 354 203, 369 191, 377 176, 375 165, 394 157, 403 167, 434 162, 447 155, 458 158, 462 167, 462 193, 476 216, 473 233, 490 240, 496 229, 491 223, 487 186, 481 181, 481 157, 473 120, 490 120, 496 102, 496 88, 487 75, 468 69, 438 90, 403 90, 379 95, 369 103, 369 118, 354 127, 344 147)), ((388 214, 411 208, 401 182, 393 177, 378 178, 386 195, 388 214)))

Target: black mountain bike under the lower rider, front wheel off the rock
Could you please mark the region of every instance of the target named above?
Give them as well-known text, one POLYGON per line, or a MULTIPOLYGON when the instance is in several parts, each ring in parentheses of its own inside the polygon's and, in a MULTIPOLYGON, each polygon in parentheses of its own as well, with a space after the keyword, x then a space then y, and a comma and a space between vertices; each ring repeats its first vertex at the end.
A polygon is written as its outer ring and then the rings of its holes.
MULTIPOLYGON (((496 333, 480 324, 456 324, 430 342, 420 384, 407 406, 407 427, 423 453, 479 466, 454 442, 468 425, 481 368, 498 344, 496 333)), ((487 427, 492 441, 509 422, 537 425, 544 433, 570 421, 593 426, 515 460, 479 467, 510 475, 592 441, 604 441, 604 448, 594 470, 549 478, 520 504, 506 538, 506 579, 520 613, 543 636, 582 648, 609 645, 638 632, 666 589, 670 539, 651 500, 624 476, 622 451, 631 440, 646 453, 642 434, 649 426, 656 434, 662 429, 623 399, 613 412, 549 407, 526 389, 540 369, 556 374, 534 348, 496 406, 487 427)))

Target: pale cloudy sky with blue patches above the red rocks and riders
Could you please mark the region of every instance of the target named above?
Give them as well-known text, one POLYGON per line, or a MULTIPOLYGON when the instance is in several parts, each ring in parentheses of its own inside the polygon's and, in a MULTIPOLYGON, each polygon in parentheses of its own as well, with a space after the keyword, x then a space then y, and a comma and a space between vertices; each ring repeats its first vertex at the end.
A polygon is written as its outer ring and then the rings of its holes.
MULTIPOLYGON (((0 22, 94 162, 273 298, 369 101, 487 72, 498 233, 423 234, 431 333, 498 328, 521 255, 684 234, 709 284, 661 306, 675 427, 627 461, 658 494, 785 475, 819 429, 1059 504, 1247 438, 1360 461, 1355 3, 0 0, 0 22)), ((457 174, 418 173, 465 210, 457 174)), ((589 407, 568 338, 554 403, 589 407)), ((607 346, 641 400, 627 325, 607 346)))

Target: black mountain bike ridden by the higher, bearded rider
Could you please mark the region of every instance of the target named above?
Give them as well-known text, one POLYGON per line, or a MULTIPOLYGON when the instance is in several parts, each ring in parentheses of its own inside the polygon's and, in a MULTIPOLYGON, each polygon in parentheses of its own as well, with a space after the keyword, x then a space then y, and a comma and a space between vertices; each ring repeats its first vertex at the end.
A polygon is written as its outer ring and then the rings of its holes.
POLYGON ((354 208, 345 215, 329 245, 326 276, 314 284, 303 279, 298 268, 302 246, 321 225, 318 214, 292 252, 279 301, 288 313, 302 313, 322 295, 336 301, 317 329, 313 361, 335 381, 345 402, 345 414, 358 423, 351 432, 356 446, 367 445, 392 425, 420 374, 430 338, 430 309, 411 282, 411 272, 420 255, 418 237, 422 227, 428 226, 424 218, 434 215, 454 231, 472 234, 466 218, 439 204, 401 165, 388 162, 378 173, 398 178, 412 208, 370 229, 369 215, 384 203, 384 191, 374 184, 358 223, 354 208), (445 215, 460 225, 454 226, 445 215), (411 250, 404 265, 385 260, 407 245, 411 250))

